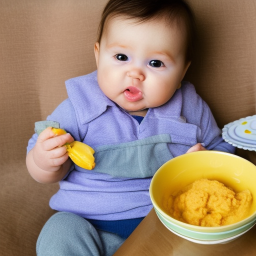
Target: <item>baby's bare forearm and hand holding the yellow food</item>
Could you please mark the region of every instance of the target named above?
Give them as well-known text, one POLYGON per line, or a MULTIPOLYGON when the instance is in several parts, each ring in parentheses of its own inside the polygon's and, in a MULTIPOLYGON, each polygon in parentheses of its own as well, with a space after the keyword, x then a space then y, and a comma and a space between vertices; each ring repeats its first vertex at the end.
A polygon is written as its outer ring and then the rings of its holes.
POLYGON ((73 140, 69 133, 56 136, 51 127, 43 130, 26 156, 26 166, 30 175, 40 183, 61 180, 71 165, 66 148, 61 145, 73 140))

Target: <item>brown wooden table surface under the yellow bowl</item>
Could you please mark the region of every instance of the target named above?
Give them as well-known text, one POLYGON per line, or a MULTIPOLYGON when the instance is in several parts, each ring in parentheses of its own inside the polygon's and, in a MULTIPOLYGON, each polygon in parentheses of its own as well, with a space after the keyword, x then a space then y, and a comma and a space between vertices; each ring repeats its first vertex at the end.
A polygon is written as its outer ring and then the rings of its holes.
POLYGON ((256 256, 256 225, 225 244, 198 244, 169 231, 154 209, 140 222, 114 256, 256 256))

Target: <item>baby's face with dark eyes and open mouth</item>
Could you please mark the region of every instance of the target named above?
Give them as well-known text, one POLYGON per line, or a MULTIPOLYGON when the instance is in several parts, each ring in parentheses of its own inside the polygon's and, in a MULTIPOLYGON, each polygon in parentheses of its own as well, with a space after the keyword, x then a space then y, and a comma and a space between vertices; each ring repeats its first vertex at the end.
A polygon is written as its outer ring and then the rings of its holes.
POLYGON ((94 47, 99 87, 129 112, 167 102, 190 64, 178 28, 164 21, 132 21, 110 19, 94 47))

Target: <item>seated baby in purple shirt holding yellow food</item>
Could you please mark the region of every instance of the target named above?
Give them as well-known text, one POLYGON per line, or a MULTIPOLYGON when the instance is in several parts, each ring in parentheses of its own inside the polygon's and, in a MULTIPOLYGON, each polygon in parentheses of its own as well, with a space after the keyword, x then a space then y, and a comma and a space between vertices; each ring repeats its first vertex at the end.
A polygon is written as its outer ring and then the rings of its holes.
POLYGON ((167 160, 186 152, 233 152, 207 104, 182 81, 194 20, 182 0, 109 0, 94 45, 97 70, 66 81, 68 98, 28 142, 26 163, 42 183, 58 182, 57 210, 37 255, 112 255, 151 210, 149 184, 167 160), (71 162, 63 145, 82 141, 96 166, 71 162))

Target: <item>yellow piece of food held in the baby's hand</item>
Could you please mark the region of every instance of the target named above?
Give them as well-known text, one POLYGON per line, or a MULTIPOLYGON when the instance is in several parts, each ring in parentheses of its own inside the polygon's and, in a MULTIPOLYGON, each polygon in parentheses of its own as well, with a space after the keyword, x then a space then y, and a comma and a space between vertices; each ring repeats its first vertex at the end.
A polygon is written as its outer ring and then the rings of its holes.
MULTIPOLYGON (((66 133, 64 129, 60 128, 52 128, 52 131, 56 136, 66 133)), ((93 148, 80 141, 65 143, 64 146, 66 147, 68 156, 76 165, 88 170, 91 170, 95 167, 93 148)))

